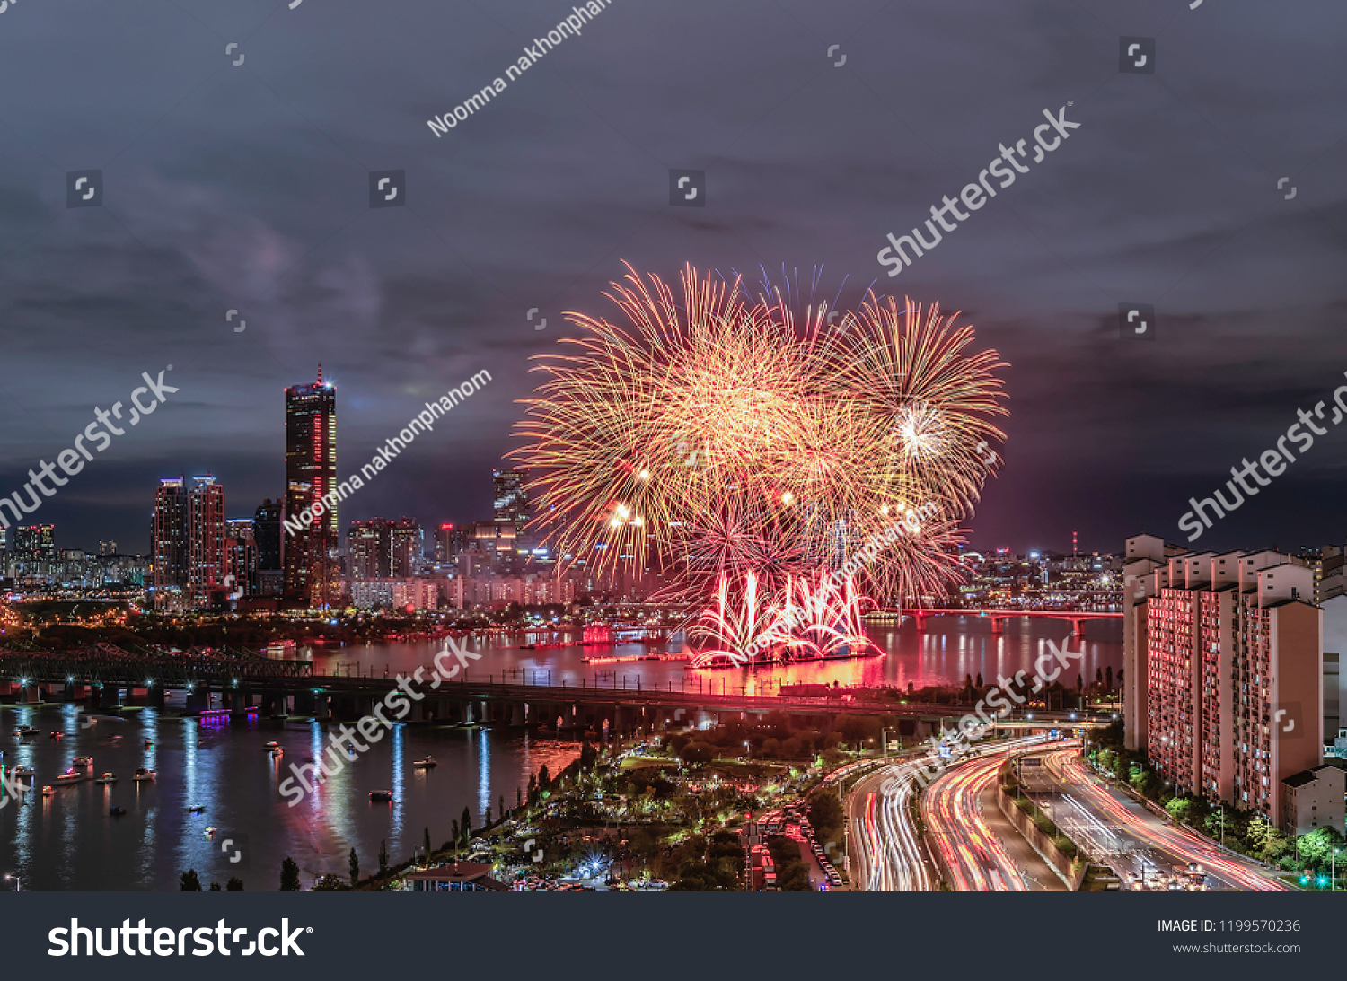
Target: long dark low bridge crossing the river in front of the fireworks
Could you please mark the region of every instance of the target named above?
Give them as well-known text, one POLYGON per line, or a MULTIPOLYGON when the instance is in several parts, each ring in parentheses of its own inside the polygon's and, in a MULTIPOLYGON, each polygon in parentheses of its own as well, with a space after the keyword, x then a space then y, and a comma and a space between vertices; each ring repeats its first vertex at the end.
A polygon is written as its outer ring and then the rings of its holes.
MULTIPOLYGON (((237 662, 175 662, 172 658, 139 658, 123 653, 96 657, 0 651, 0 698, 19 704, 50 701, 84 702, 90 711, 125 705, 166 706, 171 690, 185 693, 183 715, 222 708, 255 711, 267 716, 357 720, 384 705, 396 715, 399 696, 411 702, 404 721, 440 724, 496 724, 540 727, 564 732, 649 732, 674 723, 718 719, 730 715, 784 712, 796 716, 882 715, 900 720, 904 735, 927 735, 940 724, 973 711, 970 705, 900 702, 867 689, 838 689, 827 697, 781 696, 754 692, 742 676, 725 678, 684 677, 651 688, 636 677, 582 678, 579 685, 552 684, 546 670, 511 669, 504 673, 440 681, 431 688, 396 677, 314 674, 308 662, 238 658, 237 662), (152 663, 150 663, 152 662, 152 663), (695 684, 694 684, 695 682, 695 684), (415 692, 415 694, 411 694, 415 692), (419 698, 416 696, 420 696, 419 698)), ((1001 728, 1044 728, 1090 721, 1083 712, 1017 711, 1001 728)))

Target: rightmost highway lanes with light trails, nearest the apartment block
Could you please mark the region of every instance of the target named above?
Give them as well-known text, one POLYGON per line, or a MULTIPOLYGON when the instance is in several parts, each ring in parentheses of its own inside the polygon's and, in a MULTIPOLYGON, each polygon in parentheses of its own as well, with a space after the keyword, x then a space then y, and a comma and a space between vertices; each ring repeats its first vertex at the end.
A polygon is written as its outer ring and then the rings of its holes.
POLYGON ((1227 855, 1122 791, 1102 786, 1074 751, 1053 752, 1045 764, 1039 775, 1024 771, 1025 789, 1068 837, 1119 875, 1141 880, 1197 863, 1212 891, 1289 889, 1257 863, 1227 855))

